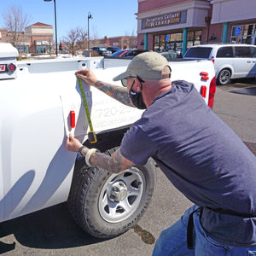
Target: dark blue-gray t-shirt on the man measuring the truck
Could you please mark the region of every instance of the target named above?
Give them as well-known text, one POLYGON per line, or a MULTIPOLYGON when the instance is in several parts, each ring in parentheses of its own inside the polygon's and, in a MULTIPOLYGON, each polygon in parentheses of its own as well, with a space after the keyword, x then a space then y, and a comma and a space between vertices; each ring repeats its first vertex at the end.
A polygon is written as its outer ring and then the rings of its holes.
MULTIPOLYGON (((120 152, 138 166, 153 157, 174 186, 200 207, 256 214, 256 157, 193 84, 172 82, 172 89, 125 133, 120 152)), ((204 209, 201 224, 223 244, 256 245, 256 218, 204 209)))

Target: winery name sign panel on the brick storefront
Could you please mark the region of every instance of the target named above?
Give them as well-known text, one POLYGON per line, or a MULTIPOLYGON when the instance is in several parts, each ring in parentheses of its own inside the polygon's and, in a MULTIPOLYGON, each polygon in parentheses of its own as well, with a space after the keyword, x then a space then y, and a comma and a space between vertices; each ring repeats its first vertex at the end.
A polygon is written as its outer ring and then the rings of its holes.
POLYGON ((159 15, 145 19, 145 28, 156 26, 168 26, 180 22, 180 13, 159 15))

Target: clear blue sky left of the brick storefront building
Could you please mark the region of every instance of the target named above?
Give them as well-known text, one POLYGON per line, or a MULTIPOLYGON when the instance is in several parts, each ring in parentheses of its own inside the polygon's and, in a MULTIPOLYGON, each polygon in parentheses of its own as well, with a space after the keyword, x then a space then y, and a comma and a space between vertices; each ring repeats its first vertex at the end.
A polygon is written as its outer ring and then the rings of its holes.
MULTIPOLYGON (((137 0, 55 0, 57 12, 58 39, 67 35, 71 28, 84 27, 87 31, 87 17, 90 12, 90 38, 108 38, 137 35, 137 0)), ((1 0, 0 27, 3 27, 3 12, 10 6, 20 6, 23 14, 29 15, 32 25, 42 22, 54 26, 54 1, 44 0, 1 0)))

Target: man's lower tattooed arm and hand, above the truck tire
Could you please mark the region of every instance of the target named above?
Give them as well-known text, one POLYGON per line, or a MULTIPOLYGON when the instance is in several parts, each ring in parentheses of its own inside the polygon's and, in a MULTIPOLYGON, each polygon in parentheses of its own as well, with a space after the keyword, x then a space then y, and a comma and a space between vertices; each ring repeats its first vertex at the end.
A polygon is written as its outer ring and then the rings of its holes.
MULTIPOLYGON (((66 148, 69 151, 78 152, 79 148, 83 145, 79 142, 78 139, 73 137, 73 134, 70 134, 67 138, 66 148)), ((83 148, 81 154, 85 156, 89 148, 83 148)), ((90 164, 94 166, 102 167, 102 169, 108 170, 109 172, 118 173, 124 171, 125 169, 135 166, 130 160, 126 159, 120 153, 119 149, 113 153, 112 156, 102 153, 94 153, 90 155, 90 164)))

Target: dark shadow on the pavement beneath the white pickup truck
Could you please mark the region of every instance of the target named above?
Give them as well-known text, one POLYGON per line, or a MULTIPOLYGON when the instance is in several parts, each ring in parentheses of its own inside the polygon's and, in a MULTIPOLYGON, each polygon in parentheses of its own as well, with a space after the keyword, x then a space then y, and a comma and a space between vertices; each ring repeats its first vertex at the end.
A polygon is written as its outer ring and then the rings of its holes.
MULTIPOLYGON (((11 234, 21 245, 34 248, 70 248, 104 241, 80 229, 69 215, 66 203, 0 224, 0 239, 11 234)), ((0 253, 14 249, 15 242, 5 244, 0 241, 0 253)))

